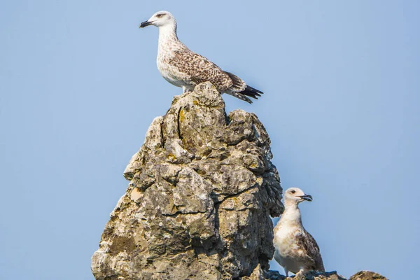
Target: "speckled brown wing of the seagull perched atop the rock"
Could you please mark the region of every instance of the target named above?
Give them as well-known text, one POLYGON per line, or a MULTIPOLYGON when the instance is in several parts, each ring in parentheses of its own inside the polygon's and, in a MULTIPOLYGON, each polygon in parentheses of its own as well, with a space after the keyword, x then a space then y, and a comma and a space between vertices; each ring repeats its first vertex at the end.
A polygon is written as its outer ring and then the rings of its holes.
POLYGON ((188 49, 175 50, 168 63, 181 73, 186 74, 189 80, 196 85, 209 81, 219 92, 223 92, 233 85, 230 76, 216 64, 188 49))

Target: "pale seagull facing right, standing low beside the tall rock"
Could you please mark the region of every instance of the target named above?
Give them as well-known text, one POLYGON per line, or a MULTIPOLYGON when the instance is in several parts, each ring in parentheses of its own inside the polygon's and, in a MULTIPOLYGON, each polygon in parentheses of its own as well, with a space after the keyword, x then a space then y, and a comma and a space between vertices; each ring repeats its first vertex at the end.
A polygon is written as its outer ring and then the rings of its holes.
POLYGON ((284 193, 284 212, 274 228, 274 259, 288 272, 294 274, 310 270, 325 272, 321 253, 314 237, 309 235, 302 225, 300 202, 312 201, 311 195, 305 195, 300 188, 289 188, 284 193))

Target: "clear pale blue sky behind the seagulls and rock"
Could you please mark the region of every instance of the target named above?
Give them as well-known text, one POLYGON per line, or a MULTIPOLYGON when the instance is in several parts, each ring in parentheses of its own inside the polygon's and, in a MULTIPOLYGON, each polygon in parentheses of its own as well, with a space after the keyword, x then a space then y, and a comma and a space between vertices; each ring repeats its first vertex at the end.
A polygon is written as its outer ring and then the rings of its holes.
MULTIPOLYGON (((156 68, 179 38, 263 92, 253 105, 325 268, 408 279, 420 249, 419 1, 1 1, 0 273, 93 279, 123 170, 181 89, 156 68)), ((272 262, 272 269, 283 270, 272 262)))

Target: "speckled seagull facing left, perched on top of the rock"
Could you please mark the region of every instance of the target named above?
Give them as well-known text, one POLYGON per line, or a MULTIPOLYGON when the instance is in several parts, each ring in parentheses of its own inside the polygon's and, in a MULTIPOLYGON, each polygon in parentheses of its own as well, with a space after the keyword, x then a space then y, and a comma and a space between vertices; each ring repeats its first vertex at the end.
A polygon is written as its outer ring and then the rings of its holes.
POLYGON ((163 78, 172 85, 182 87, 183 93, 194 90, 195 85, 211 82, 218 92, 227 93, 252 104, 262 92, 246 85, 244 80, 232 73, 223 71, 206 57, 189 50, 176 35, 174 16, 162 10, 152 15, 140 28, 155 25, 159 27, 158 69, 163 78))

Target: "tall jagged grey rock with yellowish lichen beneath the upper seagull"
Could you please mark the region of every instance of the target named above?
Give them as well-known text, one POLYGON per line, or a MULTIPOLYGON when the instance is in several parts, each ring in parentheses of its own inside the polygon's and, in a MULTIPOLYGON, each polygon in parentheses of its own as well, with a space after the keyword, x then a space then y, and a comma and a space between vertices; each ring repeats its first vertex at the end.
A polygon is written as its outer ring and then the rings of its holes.
POLYGON ((265 128, 202 83, 153 120, 92 256, 95 279, 265 279, 283 211, 265 128))

